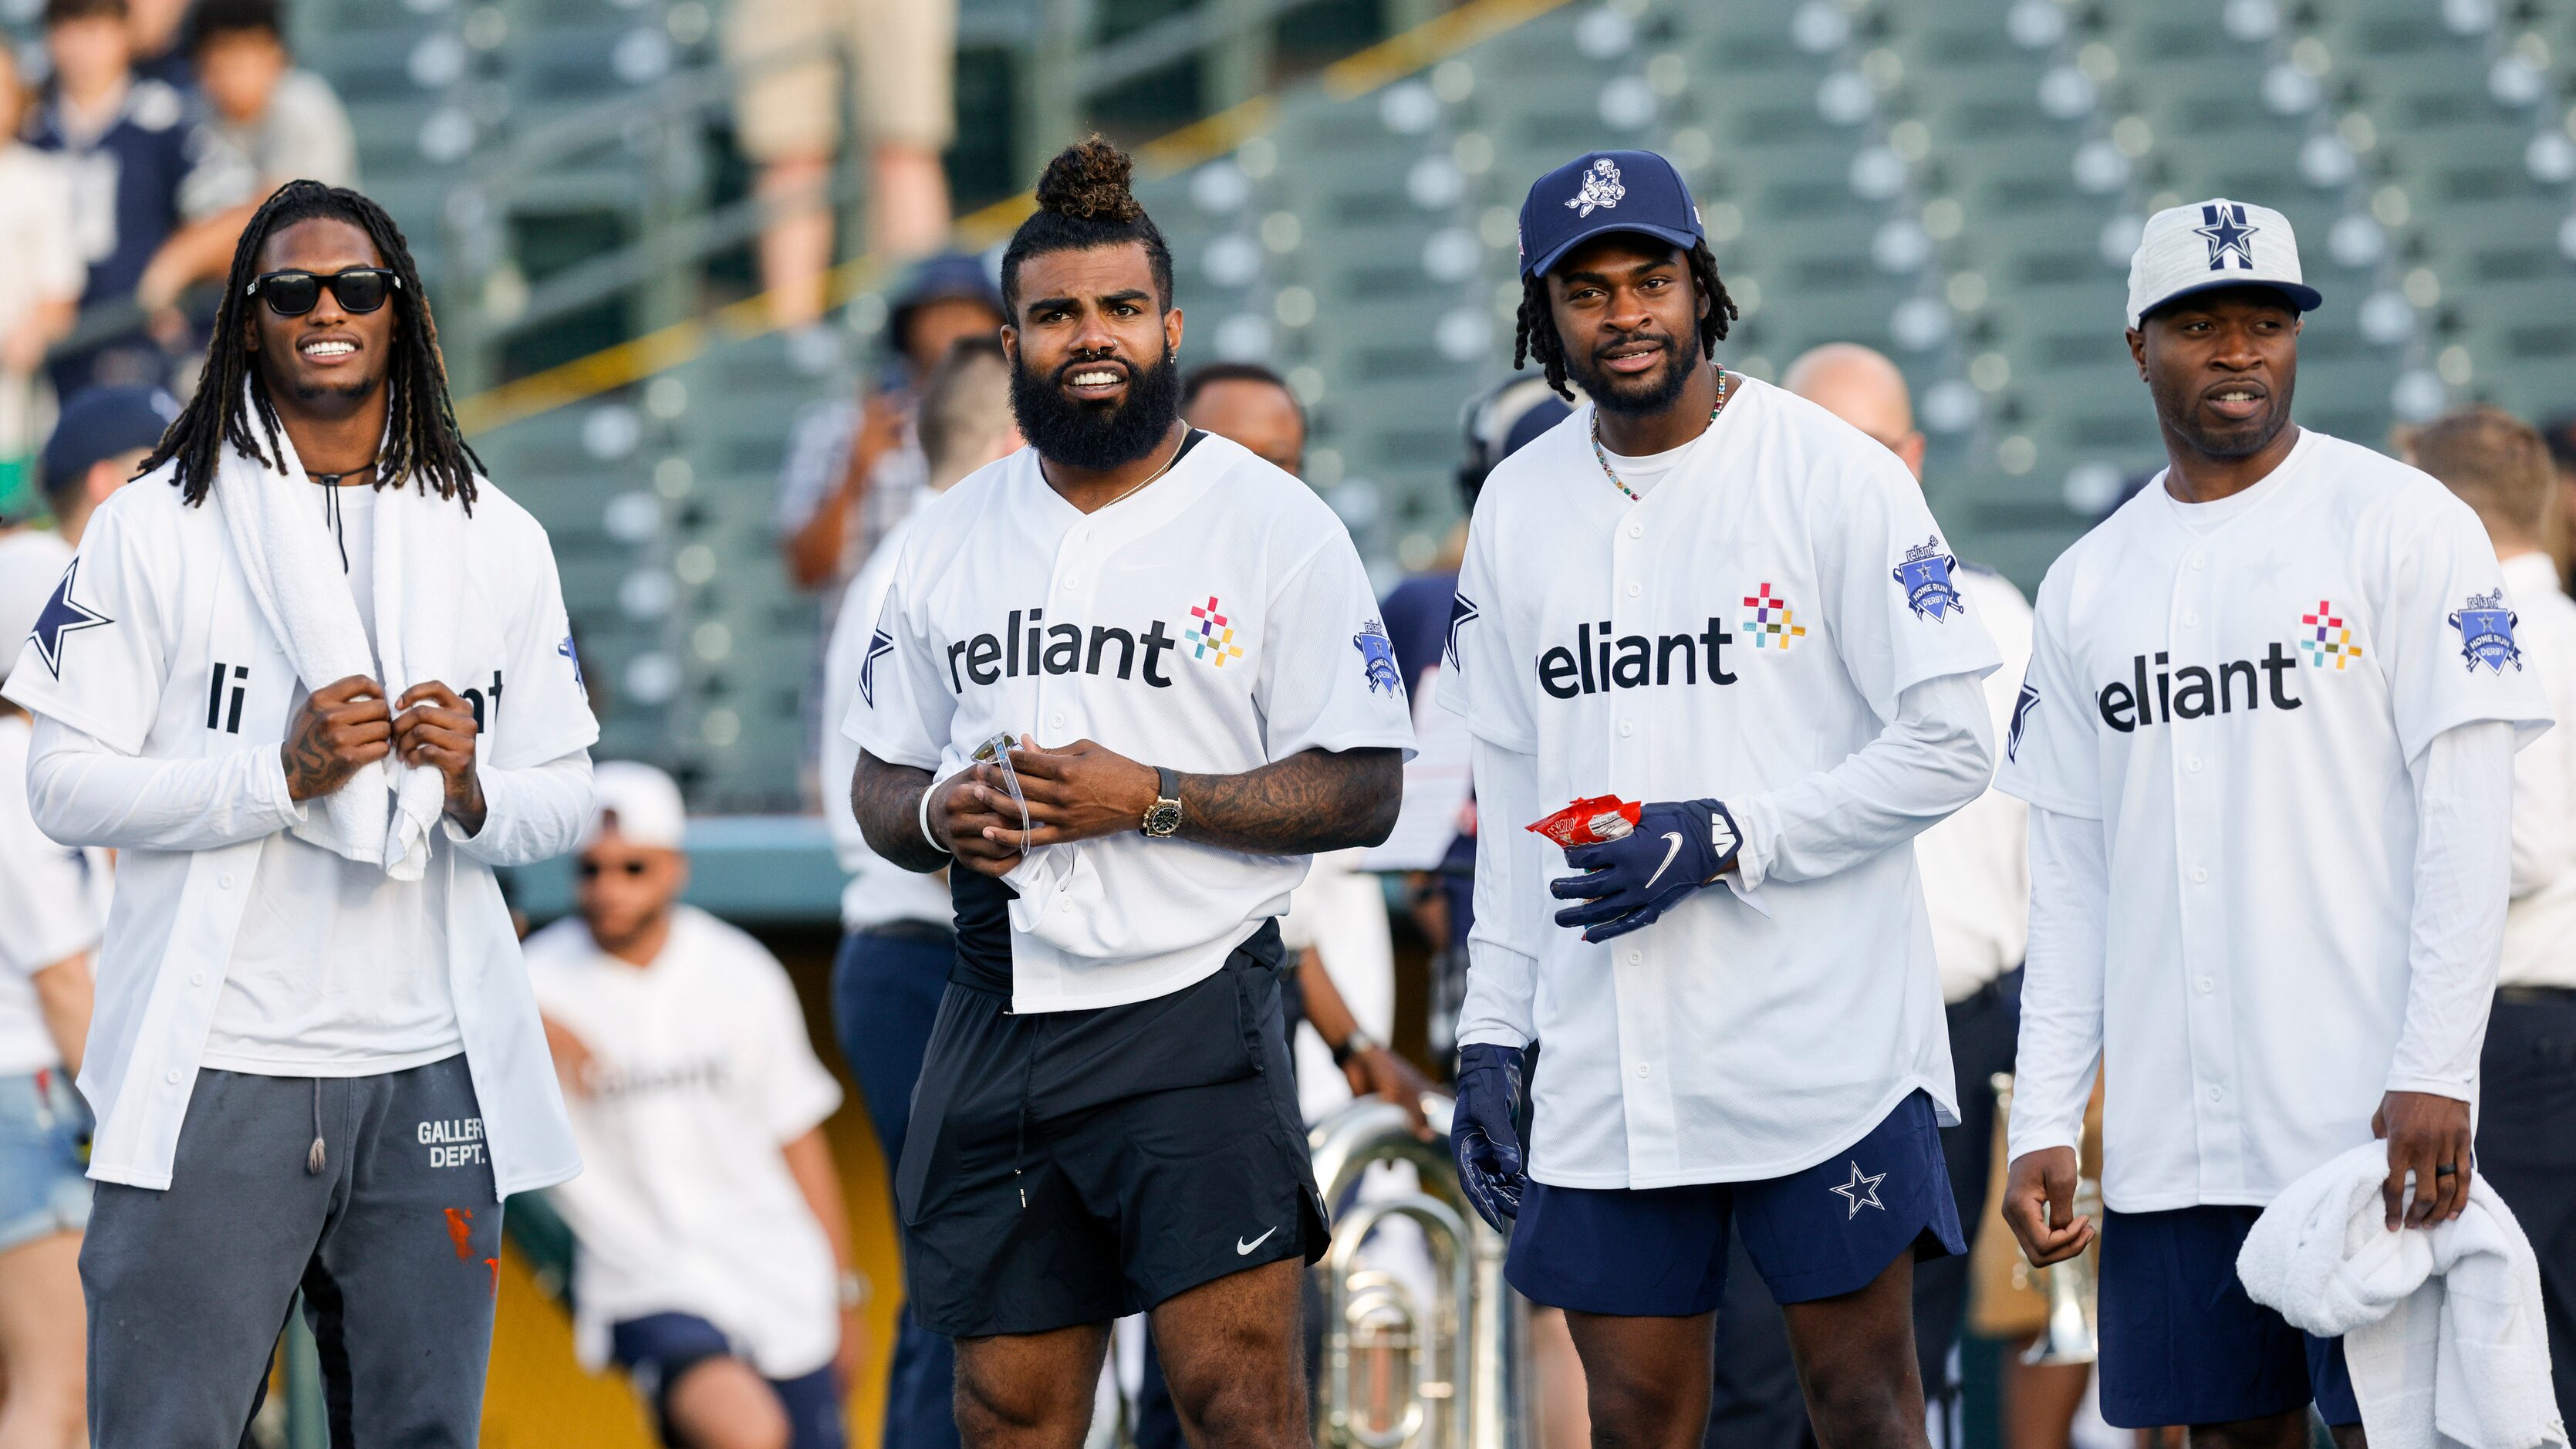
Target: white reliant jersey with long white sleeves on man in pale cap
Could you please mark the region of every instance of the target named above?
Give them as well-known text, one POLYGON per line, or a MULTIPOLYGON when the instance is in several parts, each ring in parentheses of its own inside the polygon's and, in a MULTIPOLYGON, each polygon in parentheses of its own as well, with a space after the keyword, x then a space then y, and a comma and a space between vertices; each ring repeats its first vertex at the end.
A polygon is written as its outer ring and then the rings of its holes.
POLYGON ((2385 1091, 2473 1098, 2512 730, 2442 737, 2548 719, 2486 529, 2370 449, 2159 474, 2066 549, 1999 773, 2038 812, 2012 1152, 2074 1145, 2097 1057, 2120 1212, 2264 1204, 2385 1091))

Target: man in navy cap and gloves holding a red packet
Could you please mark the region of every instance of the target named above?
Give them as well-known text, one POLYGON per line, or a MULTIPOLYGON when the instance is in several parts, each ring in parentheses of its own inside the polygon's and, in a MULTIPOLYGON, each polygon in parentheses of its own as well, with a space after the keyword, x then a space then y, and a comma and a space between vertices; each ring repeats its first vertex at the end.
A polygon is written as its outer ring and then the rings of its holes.
POLYGON ((1489 822, 1466 1194, 1517 1217, 1504 1271, 1566 1310, 1600 1441, 1700 1439, 1739 1232, 1816 1436, 1922 1446, 1914 1261, 1965 1238, 1906 846, 1986 789, 1994 642, 1896 454, 1716 366, 1734 304, 1672 162, 1540 178, 1520 266, 1517 356, 1587 402, 1486 477, 1437 691, 1489 822))

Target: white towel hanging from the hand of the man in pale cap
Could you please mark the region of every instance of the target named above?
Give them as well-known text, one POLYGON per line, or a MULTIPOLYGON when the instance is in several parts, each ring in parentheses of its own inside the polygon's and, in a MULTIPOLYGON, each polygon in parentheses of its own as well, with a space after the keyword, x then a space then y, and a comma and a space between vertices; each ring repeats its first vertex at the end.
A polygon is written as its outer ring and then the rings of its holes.
POLYGON ((2246 1294, 2342 1336, 2370 1449, 2566 1446, 2514 1209, 2470 1178, 2452 1222, 2388 1232, 2383 1181, 2388 1145, 2370 1142, 2282 1189, 2236 1253, 2246 1294))

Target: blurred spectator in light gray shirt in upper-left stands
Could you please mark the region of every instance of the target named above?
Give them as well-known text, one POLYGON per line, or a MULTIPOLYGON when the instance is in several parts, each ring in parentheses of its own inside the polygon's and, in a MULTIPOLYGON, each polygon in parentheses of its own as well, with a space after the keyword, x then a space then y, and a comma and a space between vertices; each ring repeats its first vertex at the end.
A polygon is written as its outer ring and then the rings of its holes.
POLYGON ((278 186, 358 186, 348 111, 327 80, 294 67, 278 0, 198 0, 188 31, 209 144, 178 199, 188 224, 137 284, 149 309, 175 304, 193 281, 222 281, 242 227, 278 186))

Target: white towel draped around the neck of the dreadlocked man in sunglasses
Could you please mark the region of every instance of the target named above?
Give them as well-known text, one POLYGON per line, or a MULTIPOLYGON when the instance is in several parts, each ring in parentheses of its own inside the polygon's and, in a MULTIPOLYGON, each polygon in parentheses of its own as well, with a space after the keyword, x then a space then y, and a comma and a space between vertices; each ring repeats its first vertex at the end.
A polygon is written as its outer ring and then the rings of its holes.
MULTIPOLYGON (((304 477, 283 428, 278 449, 286 454, 283 472, 227 446, 214 477, 214 505, 260 616, 286 647, 296 678, 304 688, 322 688, 368 676, 384 686, 386 706, 415 683, 443 678, 453 663, 456 608, 466 596, 464 505, 420 492, 417 485, 379 492, 376 557, 350 559, 350 567, 376 570, 376 645, 368 647, 358 596, 350 593, 340 549, 322 523, 317 485, 304 477)), ((322 804, 325 810, 307 810, 304 822, 294 825, 296 838, 412 882, 428 869, 430 830, 446 810, 446 781, 433 768, 410 768, 386 755, 361 766, 322 804)))

